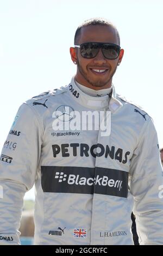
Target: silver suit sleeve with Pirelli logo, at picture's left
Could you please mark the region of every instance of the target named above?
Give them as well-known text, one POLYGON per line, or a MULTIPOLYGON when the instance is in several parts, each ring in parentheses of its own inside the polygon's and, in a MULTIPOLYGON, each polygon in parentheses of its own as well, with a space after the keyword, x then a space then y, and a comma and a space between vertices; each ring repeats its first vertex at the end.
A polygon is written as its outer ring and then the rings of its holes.
POLYGON ((0 245, 20 244, 24 194, 34 185, 41 154, 40 119, 26 103, 18 109, 0 158, 0 245))

